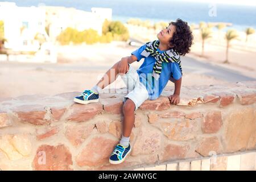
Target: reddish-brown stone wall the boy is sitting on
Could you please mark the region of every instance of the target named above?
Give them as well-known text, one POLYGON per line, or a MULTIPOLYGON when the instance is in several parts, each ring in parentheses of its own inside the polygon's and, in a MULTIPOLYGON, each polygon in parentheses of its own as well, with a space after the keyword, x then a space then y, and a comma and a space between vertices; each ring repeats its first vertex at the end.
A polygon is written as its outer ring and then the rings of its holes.
POLYGON ((80 92, 0 101, 0 169, 135 169, 256 149, 256 81, 182 86, 178 105, 168 100, 170 86, 135 111, 133 150, 109 164, 127 90, 105 92, 88 105, 73 103, 80 92))

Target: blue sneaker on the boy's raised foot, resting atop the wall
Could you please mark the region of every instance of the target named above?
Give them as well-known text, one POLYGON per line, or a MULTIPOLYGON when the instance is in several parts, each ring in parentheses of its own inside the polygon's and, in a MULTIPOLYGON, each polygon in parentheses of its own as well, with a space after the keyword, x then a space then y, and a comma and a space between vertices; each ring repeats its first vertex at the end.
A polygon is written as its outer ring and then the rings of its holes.
POLYGON ((98 93, 94 93, 92 90, 84 90, 81 96, 77 96, 74 98, 74 102, 77 102, 79 104, 98 102, 98 93))

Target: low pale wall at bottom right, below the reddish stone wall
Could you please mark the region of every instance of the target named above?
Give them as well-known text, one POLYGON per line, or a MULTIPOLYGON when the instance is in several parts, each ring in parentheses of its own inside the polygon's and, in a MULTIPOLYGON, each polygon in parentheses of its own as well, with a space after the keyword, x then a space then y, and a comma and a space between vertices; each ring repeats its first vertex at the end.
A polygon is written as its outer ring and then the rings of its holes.
POLYGON ((256 150, 219 154, 199 159, 185 159, 139 168, 131 171, 255 171, 256 150))

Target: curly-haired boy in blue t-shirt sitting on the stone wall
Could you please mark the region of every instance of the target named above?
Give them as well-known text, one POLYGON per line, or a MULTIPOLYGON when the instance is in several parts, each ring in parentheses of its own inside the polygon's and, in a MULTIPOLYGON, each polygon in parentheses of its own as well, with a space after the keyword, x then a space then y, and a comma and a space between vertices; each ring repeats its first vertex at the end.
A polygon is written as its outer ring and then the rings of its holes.
POLYGON ((74 98, 74 101, 80 104, 98 102, 101 90, 111 84, 118 75, 122 75, 121 78, 130 92, 123 98, 123 134, 109 158, 112 164, 122 163, 131 152, 129 140, 135 120, 134 111, 144 101, 156 100, 168 80, 175 84, 174 94, 169 97, 171 104, 180 102, 182 76, 180 55, 184 56, 190 51, 192 32, 187 22, 177 19, 160 31, 157 38, 158 40, 148 42, 132 52, 131 56, 123 57, 92 89, 85 90, 81 96, 74 98), (131 67, 131 63, 142 58, 144 62, 138 70, 131 67), (114 77, 110 76, 110 72, 114 73, 114 77))

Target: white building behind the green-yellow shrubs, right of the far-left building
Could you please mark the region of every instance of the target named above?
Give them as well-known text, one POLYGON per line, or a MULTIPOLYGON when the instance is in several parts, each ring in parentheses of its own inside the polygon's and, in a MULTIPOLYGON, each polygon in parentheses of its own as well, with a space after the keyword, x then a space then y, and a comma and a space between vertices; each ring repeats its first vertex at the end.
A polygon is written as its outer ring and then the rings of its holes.
POLYGON ((49 39, 56 40, 61 31, 67 27, 78 31, 92 28, 102 35, 102 25, 105 19, 112 19, 112 9, 92 8, 92 12, 75 8, 44 6, 46 11, 46 26, 49 28, 49 39))

